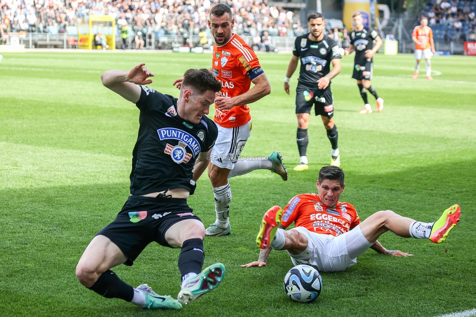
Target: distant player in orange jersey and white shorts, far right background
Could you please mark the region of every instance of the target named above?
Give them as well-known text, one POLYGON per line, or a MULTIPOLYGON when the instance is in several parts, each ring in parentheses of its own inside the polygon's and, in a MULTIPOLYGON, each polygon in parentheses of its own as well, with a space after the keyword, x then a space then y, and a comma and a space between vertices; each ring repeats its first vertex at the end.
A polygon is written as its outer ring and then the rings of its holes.
POLYGON ((431 57, 435 54, 435 42, 433 41, 433 31, 428 26, 428 18, 421 17, 420 25, 416 26, 412 33, 412 40, 415 42, 415 73, 412 78, 418 78, 420 70, 420 60, 424 56, 426 59, 426 79, 432 80, 431 77, 431 57))

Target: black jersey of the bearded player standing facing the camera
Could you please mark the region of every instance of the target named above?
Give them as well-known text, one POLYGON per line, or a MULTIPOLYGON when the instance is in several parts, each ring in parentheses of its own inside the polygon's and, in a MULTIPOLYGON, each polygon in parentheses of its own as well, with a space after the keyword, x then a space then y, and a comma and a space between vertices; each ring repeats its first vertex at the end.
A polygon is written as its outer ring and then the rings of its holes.
POLYGON ((293 54, 301 60, 299 82, 316 84, 316 81, 329 74, 329 64, 332 59, 342 58, 339 45, 328 36, 320 41, 309 40, 309 34, 298 36, 294 42, 293 54))

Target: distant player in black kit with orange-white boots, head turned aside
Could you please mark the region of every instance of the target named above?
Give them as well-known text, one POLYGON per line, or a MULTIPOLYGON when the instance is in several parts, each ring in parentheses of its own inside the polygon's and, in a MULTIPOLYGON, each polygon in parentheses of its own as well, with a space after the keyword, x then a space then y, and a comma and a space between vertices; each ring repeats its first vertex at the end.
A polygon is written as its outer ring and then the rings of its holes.
POLYGON ((372 113, 372 107, 367 100, 367 90, 377 100, 377 111, 380 112, 383 110, 383 99, 378 97, 377 91, 370 84, 370 80, 372 79, 372 68, 374 65, 372 57, 382 46, 382 39, 380 39, 376 30, 364 27, 360 12, 355 12, 352 15, 352 20, 356 28, 350 34, 350 48, 346 48, 344 54, 347 56, 356 51, 352 78, 357 79, 358 91, 365 104, 364 108, 358 113, 372 113), (374 40, 376 41, 375 45, 374 40))

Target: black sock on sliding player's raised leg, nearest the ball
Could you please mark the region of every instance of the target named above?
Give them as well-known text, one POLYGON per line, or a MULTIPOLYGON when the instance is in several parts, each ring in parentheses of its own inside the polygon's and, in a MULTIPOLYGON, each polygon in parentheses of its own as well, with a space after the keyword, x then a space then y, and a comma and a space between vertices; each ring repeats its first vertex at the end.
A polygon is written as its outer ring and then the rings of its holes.
POLYGON ((193 238, 183 241, 182 251, 179 255, 179 270, 183 277, 188 273, 200 274, 203 267, 205 254, 203 253, 203 240, 193 238))

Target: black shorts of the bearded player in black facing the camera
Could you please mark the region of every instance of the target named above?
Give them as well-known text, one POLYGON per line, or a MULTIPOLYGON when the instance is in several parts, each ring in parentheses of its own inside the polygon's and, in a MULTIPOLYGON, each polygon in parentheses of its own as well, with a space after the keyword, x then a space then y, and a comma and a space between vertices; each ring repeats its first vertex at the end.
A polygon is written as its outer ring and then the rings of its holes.
POLYGON ((332 96, 331 85, 326 89, 318 89, 317 84, 312 88, 310 85, 298 84, 296 87, 296 113, 311 113, 314 111, 317 115, 321 115, 331 119, 334 116, 334 97, 332 96))

